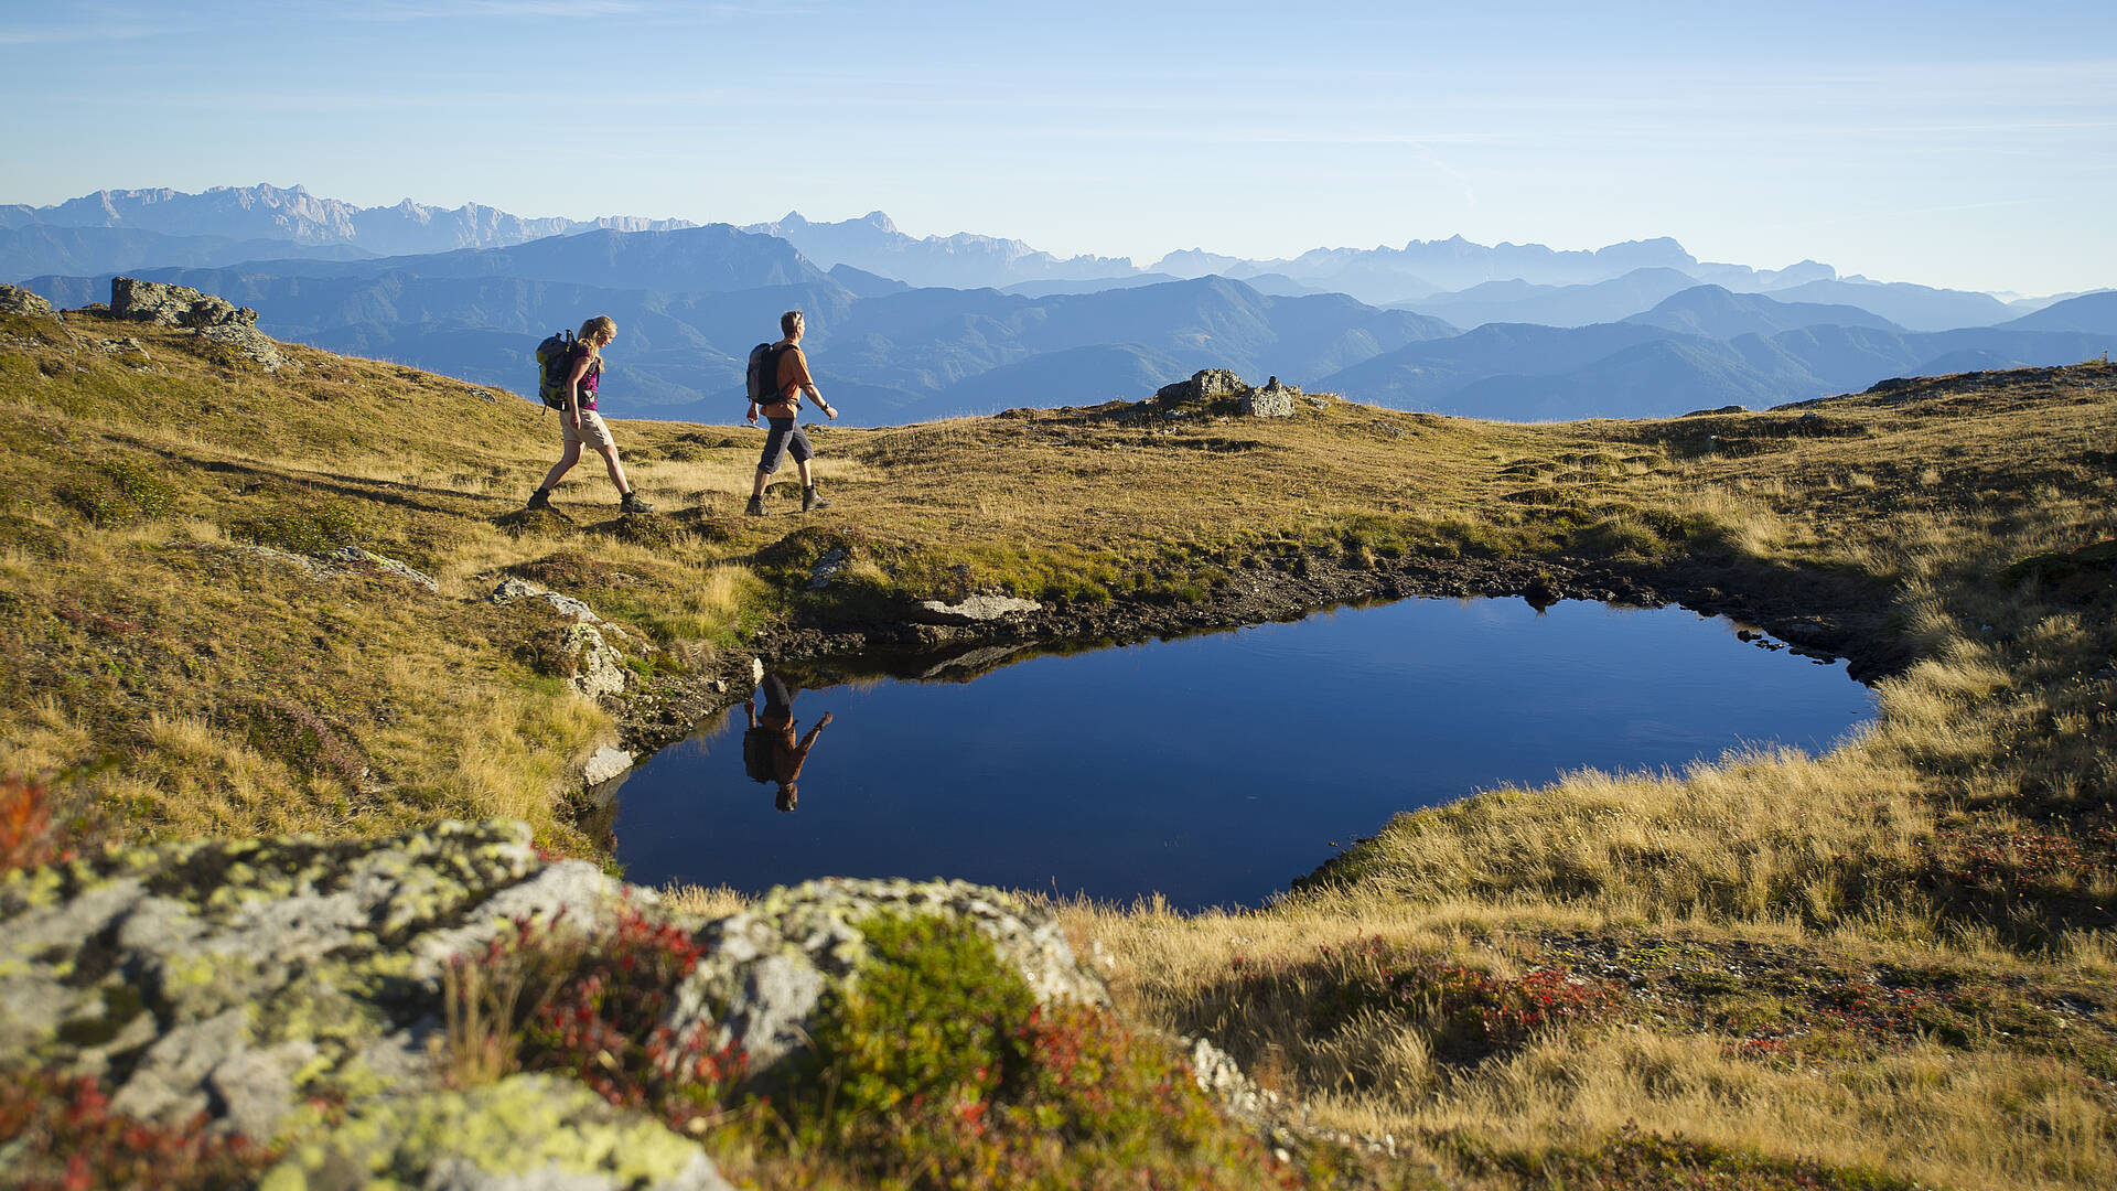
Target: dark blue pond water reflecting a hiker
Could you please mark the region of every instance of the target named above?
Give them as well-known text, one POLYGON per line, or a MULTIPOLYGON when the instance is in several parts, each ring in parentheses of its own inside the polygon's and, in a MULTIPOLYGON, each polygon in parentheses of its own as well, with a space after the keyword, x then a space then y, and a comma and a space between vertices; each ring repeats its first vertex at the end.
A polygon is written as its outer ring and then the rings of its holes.
POLYGON ((1257 905, 1395 812, 1740 744, 1821 752, 1874 699, 1842 663, 1681 608, 1406 600, 796 695, 802 733, 824 712, 792 814, 745 778, 741 708, 641 765, 618 790, 627 879, 944 875, 1257 905))

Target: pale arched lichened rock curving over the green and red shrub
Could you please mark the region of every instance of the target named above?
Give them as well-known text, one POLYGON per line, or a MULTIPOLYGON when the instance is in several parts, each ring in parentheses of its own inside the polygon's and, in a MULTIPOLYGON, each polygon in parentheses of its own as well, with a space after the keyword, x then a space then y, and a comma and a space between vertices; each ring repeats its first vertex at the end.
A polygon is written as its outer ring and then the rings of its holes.
POLYGON ((667 1026, 677 1036, 711 1032, 713 1047, 739 1045, 749 1079, 809 1038, 832 988, 849 988, 868 960, 860 924, 872 916, 936 916, 959 922, 1023 973, 1037 1000, 1107 1005, 1103 983, 1073 960, 1058 924, 1012 896, 967 882, 868 882, 832 877, 781 888, 754 907, 709 922, 709 945, 677 992, 667 1026))

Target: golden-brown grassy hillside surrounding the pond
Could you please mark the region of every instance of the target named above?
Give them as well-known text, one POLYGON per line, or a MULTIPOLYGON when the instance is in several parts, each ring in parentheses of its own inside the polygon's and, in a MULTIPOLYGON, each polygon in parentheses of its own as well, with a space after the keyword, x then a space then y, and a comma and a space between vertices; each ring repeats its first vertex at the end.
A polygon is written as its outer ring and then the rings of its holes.
POLYGON ((809 521, 737 515, 752 434, 620 424, 673 511, 625 523, 599 468, 561 490, 572 519, 514 513, 555 449, 536 407, 290 354, 298 371, 265 377, 182 333, 0 324, 25 411, 0 428, 4 769, 80 767, 68 788, 106 833, 512 814, 580 848, 569 765, 612 721, 540 674, 550 623, 478 596, 529 570, 682 672, 783 615, 756 574, 802 523, 855 545, 855 593, 1181 602, 1317 551, 1823 581, 1871 593, 1918 657, 1829 757, 1484 793, 1399 818, 1264 913, 1075 905, 1069 924, 1135 1015, 1207 1030, 1325 1123, 1471 1183, 1721 1161, 1776 1185, 1780 1159, 1952 1187, 2117 1176, 2111 572, 2009 572, 2113 536, 2109 369, 1808 422, 1334 403, 1285 424, 826 430, 840 504, 809 521), (97 348, 123 335, 148 358, 97 348), (241 543, 354 543, 442 591, 241 543))

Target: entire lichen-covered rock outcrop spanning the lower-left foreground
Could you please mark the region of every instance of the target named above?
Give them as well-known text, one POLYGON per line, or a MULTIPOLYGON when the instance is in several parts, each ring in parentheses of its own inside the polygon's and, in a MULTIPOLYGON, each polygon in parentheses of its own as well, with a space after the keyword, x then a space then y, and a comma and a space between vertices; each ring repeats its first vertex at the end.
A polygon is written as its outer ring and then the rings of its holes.
POLYGON ((726 1183, 690 1138, 561 1074, 445 1079, 453 964, 625 922, 703 954, 673 977, 671 1036, 771 1079, 870 971, 864 926, 976 932, 1039 1002, 1107 1005, 1056 924, 963 882, 824 879, 711 922, 667 913, 512 822, 394 839, 193 841, 0 879, 0 1062, 93 1074, 112 1110, 284 1144, 263 1187, 726 1183), (320 1110, 318 1104, 337 1104, 320 1110))

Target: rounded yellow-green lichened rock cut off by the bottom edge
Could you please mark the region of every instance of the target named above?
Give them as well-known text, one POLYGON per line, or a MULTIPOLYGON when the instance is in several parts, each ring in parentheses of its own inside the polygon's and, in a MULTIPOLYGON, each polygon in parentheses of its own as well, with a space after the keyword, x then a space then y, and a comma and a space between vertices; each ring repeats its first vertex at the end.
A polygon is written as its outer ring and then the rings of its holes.
POLYGON ((546 1074, 364 1104, 296 1144, 258 1187, 732 1191, 696 1142, 546 1074))

